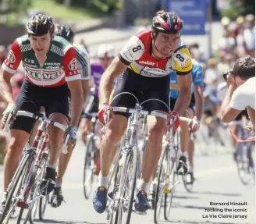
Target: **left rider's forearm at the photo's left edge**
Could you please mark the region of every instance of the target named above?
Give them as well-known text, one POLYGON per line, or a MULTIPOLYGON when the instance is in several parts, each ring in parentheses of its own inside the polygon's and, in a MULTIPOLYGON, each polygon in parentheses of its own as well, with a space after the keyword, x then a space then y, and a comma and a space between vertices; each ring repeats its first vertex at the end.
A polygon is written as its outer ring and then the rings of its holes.
POLYGON ((12 74, 6 72, 4 69, 0 71, 0 94, 7 103, 15 103, 12 98, 12 86, 11 86, 12 74))

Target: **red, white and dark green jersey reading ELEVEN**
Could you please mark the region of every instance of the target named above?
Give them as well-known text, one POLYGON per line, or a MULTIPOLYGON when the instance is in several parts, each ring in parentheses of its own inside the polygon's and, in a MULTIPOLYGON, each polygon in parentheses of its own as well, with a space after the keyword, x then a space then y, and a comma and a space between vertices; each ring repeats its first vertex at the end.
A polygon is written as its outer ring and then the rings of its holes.
POLYGON ((68 81, 81 78, 76 68, 76 52, 64 38, 55 36, 46 56, 41 67, 31 48, 28 35, 24 35, 13 42, 2 68, 9 73, 15 73, 22 61, 25 79, 30 84, 41 87, 59 87, 68 81))

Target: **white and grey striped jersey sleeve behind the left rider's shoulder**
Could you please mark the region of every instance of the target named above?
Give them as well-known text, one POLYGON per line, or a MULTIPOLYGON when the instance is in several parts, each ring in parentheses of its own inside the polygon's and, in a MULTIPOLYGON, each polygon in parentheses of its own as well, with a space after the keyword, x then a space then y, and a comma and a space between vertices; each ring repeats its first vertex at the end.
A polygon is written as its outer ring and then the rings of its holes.
POLYGON ((76 65, 81 74, 81 80, 90 80, 91 78, 91 66, 90 56, 87 50, 81 44, 73 44, 73 48, 76 51, 76 65))

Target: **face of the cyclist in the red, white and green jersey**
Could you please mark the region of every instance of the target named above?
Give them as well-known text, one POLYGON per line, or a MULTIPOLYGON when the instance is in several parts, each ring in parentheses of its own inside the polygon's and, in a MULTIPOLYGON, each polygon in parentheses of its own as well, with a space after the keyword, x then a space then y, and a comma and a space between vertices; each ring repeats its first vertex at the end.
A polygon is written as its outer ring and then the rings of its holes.
POLYGON ((34 52, 38 54, 46 54, 51 44, 50 34, 43 36, 30 36, 30 44, 34 52))

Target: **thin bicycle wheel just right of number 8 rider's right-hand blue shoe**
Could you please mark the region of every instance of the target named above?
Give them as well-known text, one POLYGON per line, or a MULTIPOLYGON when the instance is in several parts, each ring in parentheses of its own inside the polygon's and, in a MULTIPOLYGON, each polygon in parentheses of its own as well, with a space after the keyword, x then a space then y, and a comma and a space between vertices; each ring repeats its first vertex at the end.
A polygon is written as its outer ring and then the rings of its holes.
POLYGON ((159 160, 159 167, 158 167, 158 184, 155 192, 155 206, 154 206, 154 222, 157 224, 161 209, 162 209, 162 202, 164 199, 165 187, 166 187, 166 177, 168 174, 168 166, 167 166, 167 148, 165 147, 164 152, 162 153, 162 157, 159 160))

